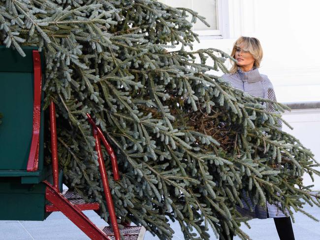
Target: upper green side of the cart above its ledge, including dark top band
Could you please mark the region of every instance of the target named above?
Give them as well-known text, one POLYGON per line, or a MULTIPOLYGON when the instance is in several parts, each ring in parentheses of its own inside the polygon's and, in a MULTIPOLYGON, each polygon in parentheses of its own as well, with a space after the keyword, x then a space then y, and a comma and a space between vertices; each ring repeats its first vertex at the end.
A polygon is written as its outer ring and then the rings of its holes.
MULTIPOLYGON (((32 139, 33 61, 0 47, 0 170, 26 170, 32 139)), ((43 60, 42 60, 43 61, 43 60)), ((43 94, 42 94, 43 95, 43 94)), ((43 113, 41 113, 39 170, 43 169, 43 113)))

